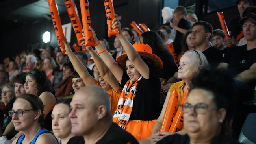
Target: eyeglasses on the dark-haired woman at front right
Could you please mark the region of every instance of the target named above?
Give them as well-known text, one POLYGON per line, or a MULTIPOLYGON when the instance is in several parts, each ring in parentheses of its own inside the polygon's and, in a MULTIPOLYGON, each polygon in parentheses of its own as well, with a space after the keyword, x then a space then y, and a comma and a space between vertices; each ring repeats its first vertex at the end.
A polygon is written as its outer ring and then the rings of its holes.
POLYGON ((180 107, 183 113, 189 113, 193 110, 196 114, 205 114, 208 110, 217 109, 217 107, 209 106, 205 103, 197 103, 196 105, 185 103, 181 104, 180 107))

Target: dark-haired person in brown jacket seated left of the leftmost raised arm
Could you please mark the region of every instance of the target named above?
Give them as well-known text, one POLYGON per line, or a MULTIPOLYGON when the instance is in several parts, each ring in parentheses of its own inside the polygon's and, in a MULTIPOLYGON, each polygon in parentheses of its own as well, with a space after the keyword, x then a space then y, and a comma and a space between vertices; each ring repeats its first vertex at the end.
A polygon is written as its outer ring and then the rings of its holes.
POLYGON ((71 75, 74 72, 74 68, 72 63, 65 63, 63 65, 63 78, 62 81, 59 82, 58 85, 61 87, 56 91, 56 97, 65 97, 69 96, 72 91, 72 77, 71 75))

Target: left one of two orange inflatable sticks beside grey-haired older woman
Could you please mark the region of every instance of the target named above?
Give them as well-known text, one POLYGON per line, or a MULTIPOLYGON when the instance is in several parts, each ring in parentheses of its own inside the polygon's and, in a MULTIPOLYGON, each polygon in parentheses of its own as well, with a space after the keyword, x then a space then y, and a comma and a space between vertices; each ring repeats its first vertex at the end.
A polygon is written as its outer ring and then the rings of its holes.
POLYGON ((160 129, 160 132, 169 131, 171 124, 173 122, 177 103, 178 103, 178 93, 177 93, 177 90, 174 89, 168 100, 168 104, 165 110, 165 115, 163 117, 163 123, 160 129))

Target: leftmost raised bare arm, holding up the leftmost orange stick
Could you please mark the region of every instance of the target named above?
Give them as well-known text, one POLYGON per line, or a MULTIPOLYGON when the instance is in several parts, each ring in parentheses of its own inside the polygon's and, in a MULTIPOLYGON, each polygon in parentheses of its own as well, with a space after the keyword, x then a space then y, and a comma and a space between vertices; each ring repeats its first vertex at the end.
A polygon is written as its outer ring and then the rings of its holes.
POLYGON ((76 57, 76 55, 72 52, 69 44, 66 41, 63 41, 65 44, 65 54, 68 55, 74 69, 79 74, 81 79, 83 79, 83 83, 85 85, 95 85, 95 78, 91 76, 87 70, 87 68, 82 64, 82 62, 76 57))

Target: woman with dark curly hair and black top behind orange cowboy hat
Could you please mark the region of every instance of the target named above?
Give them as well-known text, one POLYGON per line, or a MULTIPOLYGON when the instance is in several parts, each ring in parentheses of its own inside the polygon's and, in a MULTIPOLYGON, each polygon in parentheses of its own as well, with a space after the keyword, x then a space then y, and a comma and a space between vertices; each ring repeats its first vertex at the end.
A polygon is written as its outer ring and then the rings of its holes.
POLYGON ((152 53, 163 61, 163 69, 158 72, 158 78, 160 78, 161 83, 163 81, 166 82, 178 71, 173 56, 168 52, 163 39, 155 31, 142 33, 139 41, 143 44, 148 44, 152 48, 152 53))

